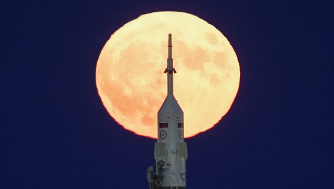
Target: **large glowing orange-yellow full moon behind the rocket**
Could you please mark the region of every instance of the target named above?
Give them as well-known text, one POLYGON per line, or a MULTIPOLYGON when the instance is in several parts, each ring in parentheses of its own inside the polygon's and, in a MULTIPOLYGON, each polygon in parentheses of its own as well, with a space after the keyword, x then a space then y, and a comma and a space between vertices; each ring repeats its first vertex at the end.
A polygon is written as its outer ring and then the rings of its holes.
POLYGON ((184 12, 143 14, 104 45, 96 85, 116 122, 157 138, 157 112, 167 95, 168 34, 172 33, 174 96, 184 112, 184 137, 212 128, 230 109, 239 88, 237 56, 226 37, 184 12))

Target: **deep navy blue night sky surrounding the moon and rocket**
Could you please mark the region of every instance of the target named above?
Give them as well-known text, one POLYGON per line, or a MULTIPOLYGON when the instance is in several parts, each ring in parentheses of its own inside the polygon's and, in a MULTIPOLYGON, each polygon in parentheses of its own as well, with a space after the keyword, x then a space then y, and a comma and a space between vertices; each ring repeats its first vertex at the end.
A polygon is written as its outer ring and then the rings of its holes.
POLYGON ((155 140, 108 115, 95 69, 118 28, 166 10, 215 26, 240 64, 228 114, 186 140, 188 188, 334 188, 333 1, 56 2, 0 6, 0 188, 149 188, 155 140))

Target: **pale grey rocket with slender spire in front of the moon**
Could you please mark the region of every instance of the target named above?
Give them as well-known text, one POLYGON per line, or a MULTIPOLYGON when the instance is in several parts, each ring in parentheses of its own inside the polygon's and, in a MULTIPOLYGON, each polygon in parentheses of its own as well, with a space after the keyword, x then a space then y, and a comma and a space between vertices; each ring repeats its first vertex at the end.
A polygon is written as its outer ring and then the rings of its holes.
POLYGON ((147 168, 147 181, 151 189, 185 189, 185 160, 188 158, 184 142, 183 111, 173 94, 172 34, 168 35, 168 59, 164 70, 167 74, 167 97, 158 111, 158 141, 154 146, 156 173, 153 166, 147 168))

